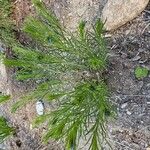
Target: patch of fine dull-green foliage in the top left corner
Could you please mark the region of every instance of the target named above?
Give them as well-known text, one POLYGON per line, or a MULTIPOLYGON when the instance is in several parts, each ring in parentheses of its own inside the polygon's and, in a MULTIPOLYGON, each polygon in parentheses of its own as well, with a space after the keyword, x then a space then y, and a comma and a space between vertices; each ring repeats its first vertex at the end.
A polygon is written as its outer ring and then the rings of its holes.
POLYGON ((11 0, 0 0, 0 41, 7 46, 15 43, 11 3, 11 0))

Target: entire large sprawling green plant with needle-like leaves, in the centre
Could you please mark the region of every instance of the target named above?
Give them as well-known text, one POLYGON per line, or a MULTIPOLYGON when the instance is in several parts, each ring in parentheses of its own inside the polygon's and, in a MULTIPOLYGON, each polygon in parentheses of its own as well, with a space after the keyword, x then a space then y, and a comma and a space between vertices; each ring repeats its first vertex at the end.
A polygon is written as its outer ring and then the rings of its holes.
POLYGON ((89 149, 99 150, 107 141, 107 120, 115 114, 103 77, 107 68, 103 23, 98 19, 88 31, 82 21, 73 35, 42 2, 33 0, 33 4, 38 16, 29 17, 23 30, 38 46, 13 47, 15 57, 4 63, 17 67, 17 79, 34 82, 35 88, 12 111, 39 99, 54 102, 54 110, 35 120, 35 125, 48 121, 44 140, 62 139, 66 150, 76 150, 85 137, 89 149))

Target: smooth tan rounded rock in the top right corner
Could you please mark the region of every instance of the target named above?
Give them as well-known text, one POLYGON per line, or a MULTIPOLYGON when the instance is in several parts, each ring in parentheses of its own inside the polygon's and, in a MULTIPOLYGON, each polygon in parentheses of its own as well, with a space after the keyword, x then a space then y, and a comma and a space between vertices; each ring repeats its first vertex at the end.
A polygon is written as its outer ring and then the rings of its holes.
POLYGON ((114 30, 134 19, 147 6, 149 0, 108 0, 102 12, 107 30, 114 30))

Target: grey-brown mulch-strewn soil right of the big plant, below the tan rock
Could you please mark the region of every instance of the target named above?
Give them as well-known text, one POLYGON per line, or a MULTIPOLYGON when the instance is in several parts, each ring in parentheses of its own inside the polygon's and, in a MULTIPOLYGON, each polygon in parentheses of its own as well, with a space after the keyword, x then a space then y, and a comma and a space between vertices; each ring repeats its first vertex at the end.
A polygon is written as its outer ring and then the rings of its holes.
POLYGON ((137 66, 150 69, 150 11, 145 11, 111 37, 109 84, 118 106, 112 136, 116 150, 145 150, 150 146, 150 75, 135 78, 137 66))

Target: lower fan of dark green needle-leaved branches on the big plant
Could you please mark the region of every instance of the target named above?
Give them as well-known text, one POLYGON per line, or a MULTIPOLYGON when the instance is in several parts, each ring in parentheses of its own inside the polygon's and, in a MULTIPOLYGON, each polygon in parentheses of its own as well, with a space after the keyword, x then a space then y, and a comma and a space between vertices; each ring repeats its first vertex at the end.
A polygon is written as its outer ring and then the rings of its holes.
MULTIPOLYGON (((105 121, 113 116, 111 105, 107 101, 108 89, 105 83, 82 82, 66 94, 61 100, 61 107, 47 115, 49 131, 44 140, 61 139, 66 143, 66 149, 77 149, 80 137, 91 140, 92 147, 100 147, 102 139, 106 138, 105 121), (86 137, 89 133, 91 136, 86 137)), ((43 122, 38 118, 36 123, 43 122)), ((98 149, 98 148, 97 148, 98 149)))

